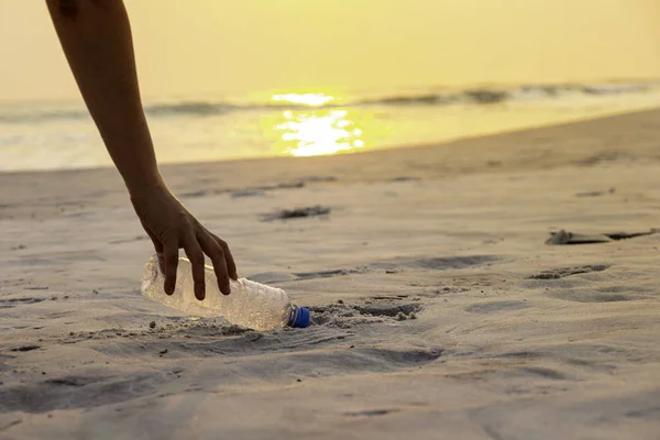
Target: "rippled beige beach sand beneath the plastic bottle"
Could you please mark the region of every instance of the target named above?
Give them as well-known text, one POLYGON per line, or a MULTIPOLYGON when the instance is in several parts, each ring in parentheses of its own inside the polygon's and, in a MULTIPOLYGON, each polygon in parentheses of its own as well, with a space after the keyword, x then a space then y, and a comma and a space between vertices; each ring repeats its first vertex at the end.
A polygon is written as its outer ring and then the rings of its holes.
POLYGON ((0 174, 0 438, 659 439, 660 234, 546 244, 660 227, 658 121, 165 167, 262 333, 141 296, 114 170, 0 174))

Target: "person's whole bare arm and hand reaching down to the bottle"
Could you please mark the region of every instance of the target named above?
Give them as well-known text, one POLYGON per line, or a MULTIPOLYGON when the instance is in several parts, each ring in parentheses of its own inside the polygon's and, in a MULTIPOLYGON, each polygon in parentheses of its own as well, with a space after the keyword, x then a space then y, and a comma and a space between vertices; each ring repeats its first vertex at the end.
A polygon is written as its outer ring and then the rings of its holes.
POLYGON ((193 263, 195 296, 205 298, 205 254, 229 295, 237 266, 227 243, 208 231, 163 180, 144 116, 129 18, 123 0, 46 0, 55 30, 106 147, 152 239, 174 293, 178 250, 193 263))

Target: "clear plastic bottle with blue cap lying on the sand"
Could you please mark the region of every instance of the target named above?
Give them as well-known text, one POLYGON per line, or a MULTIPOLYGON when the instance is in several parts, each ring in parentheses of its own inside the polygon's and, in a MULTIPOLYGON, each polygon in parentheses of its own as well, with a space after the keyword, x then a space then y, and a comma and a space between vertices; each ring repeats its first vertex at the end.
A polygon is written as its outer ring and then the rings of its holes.
POLYGON ((233 324, 258 331, 309 324, 309 310, 292 305, 283 289, 240 278, 230 279, 231 293, 223 295, 211 266, 206 266, 206 297, 200 301, 195 297, 191 267, 188 258, 179 258, 176 287, 169 296, 163 287, 165 276, 158 258, 152 256, 142 276, 142 295, 188 315, 223 317, 233 324))

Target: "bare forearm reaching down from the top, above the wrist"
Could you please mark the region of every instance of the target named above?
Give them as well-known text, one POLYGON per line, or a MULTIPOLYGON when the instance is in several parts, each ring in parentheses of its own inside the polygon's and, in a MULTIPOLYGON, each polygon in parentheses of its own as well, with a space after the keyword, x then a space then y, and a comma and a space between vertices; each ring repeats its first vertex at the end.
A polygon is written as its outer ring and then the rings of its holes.
POLYGON ((162 186, 122 0, 46 0, 62 47, 131 195, 162 186))

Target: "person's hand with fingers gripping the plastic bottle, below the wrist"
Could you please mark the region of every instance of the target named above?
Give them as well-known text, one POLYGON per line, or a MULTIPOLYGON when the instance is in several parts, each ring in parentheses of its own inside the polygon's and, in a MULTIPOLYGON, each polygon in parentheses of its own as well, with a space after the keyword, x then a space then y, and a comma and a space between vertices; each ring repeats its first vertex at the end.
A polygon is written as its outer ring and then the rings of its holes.
POLYGON ((238 279, 238 275, 237 265, 223 240, 202 227, 165 186, 132 194, 131 201, 158 254, 167 295, 174 294, 179 248, 185 250, 193 264, 197 299, 202 300, 206 296, 205 254, 211 258, 220 292, 229 295, 229 278, 238 279))

